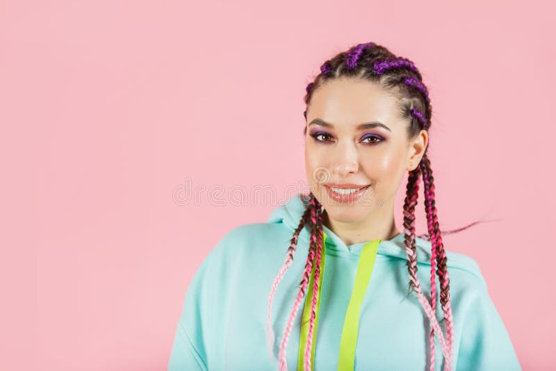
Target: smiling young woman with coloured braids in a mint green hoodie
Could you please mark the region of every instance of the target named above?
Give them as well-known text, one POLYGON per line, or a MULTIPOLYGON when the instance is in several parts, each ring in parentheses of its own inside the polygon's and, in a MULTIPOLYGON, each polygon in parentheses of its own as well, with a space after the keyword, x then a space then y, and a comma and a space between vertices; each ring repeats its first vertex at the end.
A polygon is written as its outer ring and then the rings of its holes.
POLYGON ((414 63, 358 44, 322 65, 305 102, 311 192, 208 254, 168 370, 521 370, 477 263, 444 249, 432 106, 414 63), (393 204, 405 172, 400 232, 393 204))

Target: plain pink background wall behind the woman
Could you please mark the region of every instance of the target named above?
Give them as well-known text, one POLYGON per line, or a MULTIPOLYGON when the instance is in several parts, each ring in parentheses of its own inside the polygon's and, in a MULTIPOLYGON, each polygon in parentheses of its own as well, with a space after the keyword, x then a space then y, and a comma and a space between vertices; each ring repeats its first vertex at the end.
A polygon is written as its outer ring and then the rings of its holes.
MULTIPOLYGON (((369 41, 413 60, 429 87, 441 228, 497 220, 445 247, 480 264, 524 370, 555 367, 554 11, 1 1, 0 368, 165 370, 199 264, 277 206, 218 206, 208 189, 283 199, 304 182, 305 86, 369 41), (174 197, 186 179, 206 187, 199 204, 174 197)), ((425 232, 422 204, 418 221, 425 232)))

